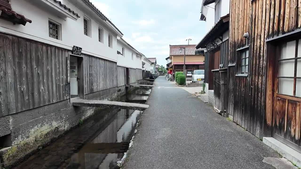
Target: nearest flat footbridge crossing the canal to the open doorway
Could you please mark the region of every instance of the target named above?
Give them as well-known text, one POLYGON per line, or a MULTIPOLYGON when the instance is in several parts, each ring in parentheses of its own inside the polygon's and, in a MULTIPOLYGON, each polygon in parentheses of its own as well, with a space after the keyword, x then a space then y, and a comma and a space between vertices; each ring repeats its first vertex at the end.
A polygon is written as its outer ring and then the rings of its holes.
POLYGON ((85 100, 77 99, 72 102, 73 106, 82 107, 101 107, 101 108, 118 108, 118 109, 131 109, 131 110, 145 110, 149 107, 147 104, 115 102, 107 100, 85 100))

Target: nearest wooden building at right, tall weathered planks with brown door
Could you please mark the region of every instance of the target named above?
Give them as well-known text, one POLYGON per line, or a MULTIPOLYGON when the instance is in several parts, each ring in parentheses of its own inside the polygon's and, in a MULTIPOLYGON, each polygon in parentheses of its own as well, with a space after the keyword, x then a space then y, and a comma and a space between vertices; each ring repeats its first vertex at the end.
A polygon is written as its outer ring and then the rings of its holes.
POLYGON ((228 105, 235 123, 301 152, 301 3, 231 0, 228 105))

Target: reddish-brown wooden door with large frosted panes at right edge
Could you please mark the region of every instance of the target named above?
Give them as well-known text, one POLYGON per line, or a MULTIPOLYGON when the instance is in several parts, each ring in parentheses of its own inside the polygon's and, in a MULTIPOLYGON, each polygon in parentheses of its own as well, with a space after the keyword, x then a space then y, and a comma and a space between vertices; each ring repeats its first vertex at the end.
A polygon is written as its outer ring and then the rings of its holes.
POLYGON ((301 41, 276 47, 272 136, 301 152, 301 41))

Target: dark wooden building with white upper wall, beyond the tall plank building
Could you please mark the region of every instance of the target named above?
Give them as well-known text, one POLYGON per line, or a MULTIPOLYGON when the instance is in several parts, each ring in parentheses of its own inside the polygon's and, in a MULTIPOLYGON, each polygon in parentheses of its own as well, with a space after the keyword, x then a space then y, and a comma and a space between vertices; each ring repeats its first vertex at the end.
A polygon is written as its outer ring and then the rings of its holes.
POLYGON ((206 48, 204 83, 205 92, 209 95, 209 103, 219 112, 224 112, 227 103, 229 8, 225 0, 203 1, 203 6, 210 4, 219 7, 220 11, 215 10, 214 16, 206 16, 206 18, 214 17, 215 24, 196 48, 206 48))

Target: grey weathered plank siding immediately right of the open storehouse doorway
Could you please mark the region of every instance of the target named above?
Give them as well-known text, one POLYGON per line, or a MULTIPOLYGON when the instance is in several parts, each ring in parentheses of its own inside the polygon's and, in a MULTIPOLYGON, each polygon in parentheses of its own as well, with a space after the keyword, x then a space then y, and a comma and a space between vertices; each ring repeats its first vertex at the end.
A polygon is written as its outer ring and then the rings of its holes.
POLYGON ((117 87, 117 64, 82 54, 84 57, 85 94, 117 87))

